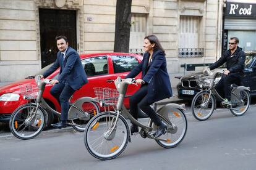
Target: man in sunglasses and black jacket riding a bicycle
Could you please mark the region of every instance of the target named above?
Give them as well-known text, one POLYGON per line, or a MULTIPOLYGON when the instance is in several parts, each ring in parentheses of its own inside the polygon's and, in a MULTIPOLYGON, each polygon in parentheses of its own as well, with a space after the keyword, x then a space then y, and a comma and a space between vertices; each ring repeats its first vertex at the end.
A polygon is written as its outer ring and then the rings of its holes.
POLYGON ((228 43, 229 49, 224 52, 217 62, 209 67, 210 70, 213 70, 226 63, 227 68, 223 71, 223 76, 215 87, 218 93, 224 97, 223 105, 231 105, 231 84, 242 84, 241 73, 244 70, 245 53, 238 46, 238 43, 238 38, 231 37, 228 43))

